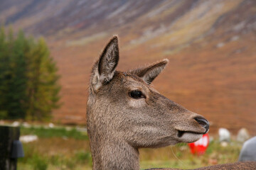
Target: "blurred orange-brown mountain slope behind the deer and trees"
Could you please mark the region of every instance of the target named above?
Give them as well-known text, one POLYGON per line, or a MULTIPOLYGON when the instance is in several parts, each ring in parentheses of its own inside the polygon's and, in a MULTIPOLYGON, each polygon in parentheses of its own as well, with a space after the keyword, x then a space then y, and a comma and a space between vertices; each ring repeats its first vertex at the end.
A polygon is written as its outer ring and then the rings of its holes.
POLYGON ((166 57, 154 86, 233 132, 256 134, 256 1, 3 0, 0 23, 43 35, 58 62, 63 107, 55 120, 85 123, 92 63, 119 35, 119 69, 166 57))

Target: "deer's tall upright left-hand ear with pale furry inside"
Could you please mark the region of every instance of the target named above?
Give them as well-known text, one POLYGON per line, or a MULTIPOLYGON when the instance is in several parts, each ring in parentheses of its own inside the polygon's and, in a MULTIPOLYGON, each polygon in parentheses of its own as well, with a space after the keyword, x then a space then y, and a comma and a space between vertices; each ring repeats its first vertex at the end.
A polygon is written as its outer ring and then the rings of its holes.
POLYGON ((102 55, 100 55, 100 59, 92 68, 91 85, 94 91, 100 89, 102 85, 106 84, 113 78, 118 60, 118 40, 117 36, 114 36, 114 38, 108 42, 102 52, 102 55))

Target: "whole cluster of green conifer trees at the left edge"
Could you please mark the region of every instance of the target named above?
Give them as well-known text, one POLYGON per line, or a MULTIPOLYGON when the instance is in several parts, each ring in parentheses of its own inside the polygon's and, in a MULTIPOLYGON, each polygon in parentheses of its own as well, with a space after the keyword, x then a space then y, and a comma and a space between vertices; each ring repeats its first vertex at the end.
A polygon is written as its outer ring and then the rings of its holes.
POLYGON ((0 29, 0 119, 46 120, 58 108, 57 67, 45 40, 0 29))

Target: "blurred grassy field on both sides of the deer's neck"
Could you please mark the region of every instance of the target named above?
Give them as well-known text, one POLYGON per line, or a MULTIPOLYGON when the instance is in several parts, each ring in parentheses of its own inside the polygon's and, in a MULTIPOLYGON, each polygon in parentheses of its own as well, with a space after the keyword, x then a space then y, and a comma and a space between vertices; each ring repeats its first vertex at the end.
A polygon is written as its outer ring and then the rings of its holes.
MULTIPOLYGON (((39 140, 23 143, 25 157, 18 159, 18 170, 92 169, 92 157, 86 132, 76 128, 21 127, 21 135, 38 135, 39 140)), ((191 169, 212 164, 236 162, 241 145, 231 142, 221 147, 210 142, 206 154, 192 155, 186 144, 159 149, 141 149, 141 169, 174 167, 191 169)))

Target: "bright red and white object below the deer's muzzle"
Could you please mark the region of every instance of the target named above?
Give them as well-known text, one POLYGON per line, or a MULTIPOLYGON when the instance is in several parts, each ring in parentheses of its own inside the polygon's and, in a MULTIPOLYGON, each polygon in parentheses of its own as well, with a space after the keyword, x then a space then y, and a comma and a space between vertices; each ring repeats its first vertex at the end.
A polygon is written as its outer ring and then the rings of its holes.
POLYGON ((208 133, 203 135, 200 140, 189 143, 188 146, 191 149, 192 154, 202 155, 206 152, 206 149, 209 145, 209 135, 208 133))

